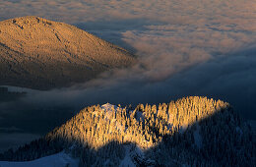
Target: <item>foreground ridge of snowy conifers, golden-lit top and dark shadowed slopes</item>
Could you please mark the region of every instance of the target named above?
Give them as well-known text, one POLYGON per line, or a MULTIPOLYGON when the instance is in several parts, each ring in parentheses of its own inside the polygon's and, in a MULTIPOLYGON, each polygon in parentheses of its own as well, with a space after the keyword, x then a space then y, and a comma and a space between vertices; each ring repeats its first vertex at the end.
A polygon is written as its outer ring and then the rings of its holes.
POLYGON ((221 100, 184 97, 135 109, 90 106, 43 139, 3 160, 32 160, 65 149, 81 166, 253 166, 250 126, 221 100))

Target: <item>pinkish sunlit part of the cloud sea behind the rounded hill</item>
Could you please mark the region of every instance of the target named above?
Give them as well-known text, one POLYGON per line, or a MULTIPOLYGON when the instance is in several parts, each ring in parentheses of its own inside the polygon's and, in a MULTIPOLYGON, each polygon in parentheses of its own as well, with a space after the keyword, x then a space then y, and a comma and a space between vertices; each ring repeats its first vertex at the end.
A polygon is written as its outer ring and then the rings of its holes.
POLYGON ((153 80, 255 42, 246 0, 3 0, 0 20, 36 15, 74 24, 133 49, 153 80))

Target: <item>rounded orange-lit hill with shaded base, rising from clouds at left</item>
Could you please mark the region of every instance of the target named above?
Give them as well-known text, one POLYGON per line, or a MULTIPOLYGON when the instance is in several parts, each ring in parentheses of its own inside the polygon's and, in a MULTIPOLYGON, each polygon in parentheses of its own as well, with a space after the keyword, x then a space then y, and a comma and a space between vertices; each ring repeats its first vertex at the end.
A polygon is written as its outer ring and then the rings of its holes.
POLYGON ((0 22, 0 85, 69 86, 135 62, 123 48, 64 23, 38 17, 0 22))

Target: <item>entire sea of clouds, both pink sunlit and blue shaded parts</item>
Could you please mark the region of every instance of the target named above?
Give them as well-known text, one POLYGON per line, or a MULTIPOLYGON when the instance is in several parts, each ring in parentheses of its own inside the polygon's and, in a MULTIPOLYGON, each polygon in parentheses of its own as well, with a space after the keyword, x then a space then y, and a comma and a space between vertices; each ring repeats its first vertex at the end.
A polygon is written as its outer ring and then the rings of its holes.
POLYGON ((256 119, 256 1, 0 1, 0 21, 30 15, 83 28, 139 62, 89 83, 29 93, 18 106, 136 105, 204 95, 256 119))

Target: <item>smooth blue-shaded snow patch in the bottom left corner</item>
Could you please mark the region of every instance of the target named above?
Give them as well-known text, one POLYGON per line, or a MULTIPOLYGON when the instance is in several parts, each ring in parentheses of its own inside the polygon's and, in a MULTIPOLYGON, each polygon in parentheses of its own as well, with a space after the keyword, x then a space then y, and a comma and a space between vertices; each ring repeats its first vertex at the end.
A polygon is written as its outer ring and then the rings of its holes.
POLYGON ((0 167, 78 167, 79 160, 70 157, 64 152, 45 156, 27 162, 0 161, 0 167))

